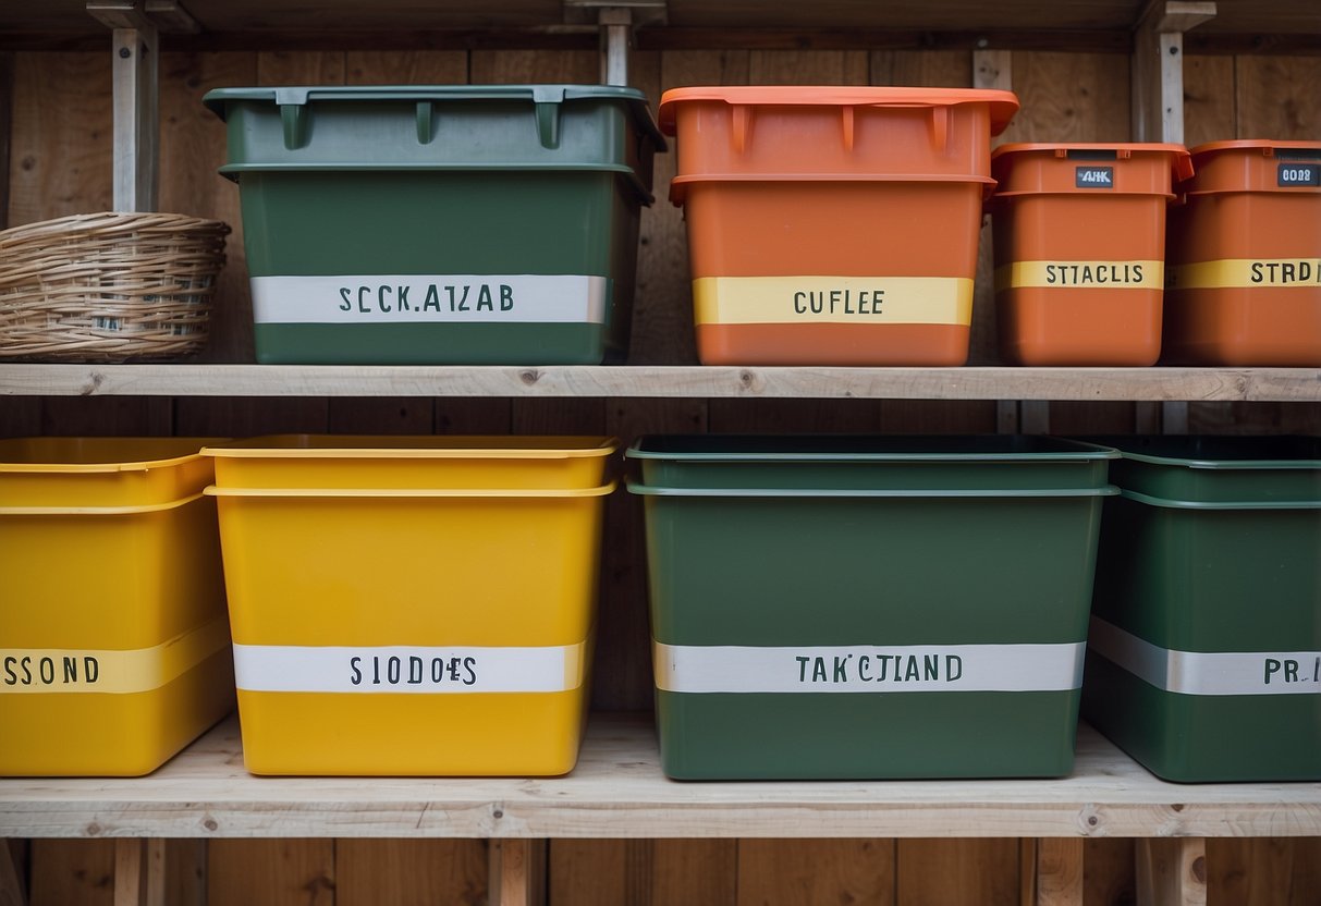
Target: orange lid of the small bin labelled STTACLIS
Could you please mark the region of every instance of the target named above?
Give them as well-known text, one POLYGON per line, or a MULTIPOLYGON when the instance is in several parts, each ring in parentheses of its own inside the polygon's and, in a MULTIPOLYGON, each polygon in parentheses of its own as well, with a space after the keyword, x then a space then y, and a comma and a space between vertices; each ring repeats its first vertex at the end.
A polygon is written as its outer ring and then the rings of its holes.
POLYGON ((1174 194, 1174 184, 1193 176, 1193 157, 1184 145, 1161 143, 1017 143, 991 152, 996 197, 1094 193, 1078 182, 1078 168, 1114 168, 1111 194, 1174 194))

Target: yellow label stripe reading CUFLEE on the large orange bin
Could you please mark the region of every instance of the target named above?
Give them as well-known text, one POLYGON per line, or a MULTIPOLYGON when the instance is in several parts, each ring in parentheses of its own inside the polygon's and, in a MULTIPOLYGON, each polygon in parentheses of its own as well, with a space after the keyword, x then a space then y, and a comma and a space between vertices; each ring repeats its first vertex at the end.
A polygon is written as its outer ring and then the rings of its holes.
POLYGON ((972 322, 968 277, 699 277, 697 324, 972 322))

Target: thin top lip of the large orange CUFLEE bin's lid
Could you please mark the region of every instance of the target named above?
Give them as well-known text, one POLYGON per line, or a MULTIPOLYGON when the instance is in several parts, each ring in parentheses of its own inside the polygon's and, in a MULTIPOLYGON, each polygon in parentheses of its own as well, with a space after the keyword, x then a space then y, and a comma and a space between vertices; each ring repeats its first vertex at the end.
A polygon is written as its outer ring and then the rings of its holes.
POLYGON ((708 86, 670 88, 660 95, 660 131, 675 133, 675 104, 723 100, 728 104, 836 106, 836 107, 952 107, 987 104, 991 135, 1000 135, 1018 112, 1018 96, 999 88, 911 88, 873 86, 708 86))

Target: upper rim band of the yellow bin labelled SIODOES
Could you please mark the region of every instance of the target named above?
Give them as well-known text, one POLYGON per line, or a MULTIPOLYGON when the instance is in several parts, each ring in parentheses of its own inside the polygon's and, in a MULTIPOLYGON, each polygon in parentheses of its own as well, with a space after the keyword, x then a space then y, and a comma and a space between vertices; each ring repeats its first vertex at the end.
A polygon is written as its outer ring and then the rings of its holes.
POLYGON ((609 437, 275 435, 211 446, 221 487, 553 489, 601 485, 609 437))

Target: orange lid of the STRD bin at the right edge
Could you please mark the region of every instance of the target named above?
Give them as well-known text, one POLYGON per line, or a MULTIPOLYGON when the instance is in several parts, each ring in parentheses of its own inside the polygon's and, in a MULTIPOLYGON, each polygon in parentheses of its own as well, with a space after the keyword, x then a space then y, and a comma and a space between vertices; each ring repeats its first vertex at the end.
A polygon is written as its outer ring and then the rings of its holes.
POLYGON ((1190 151, 1196 174, 1178 186, 1188 194, 1209 192, 1321 192, 1321 141, 1236 139, 1209 141, 1190 151), (1300 162, 1309 181, 1281 184, 1280 166, 1300 162))

